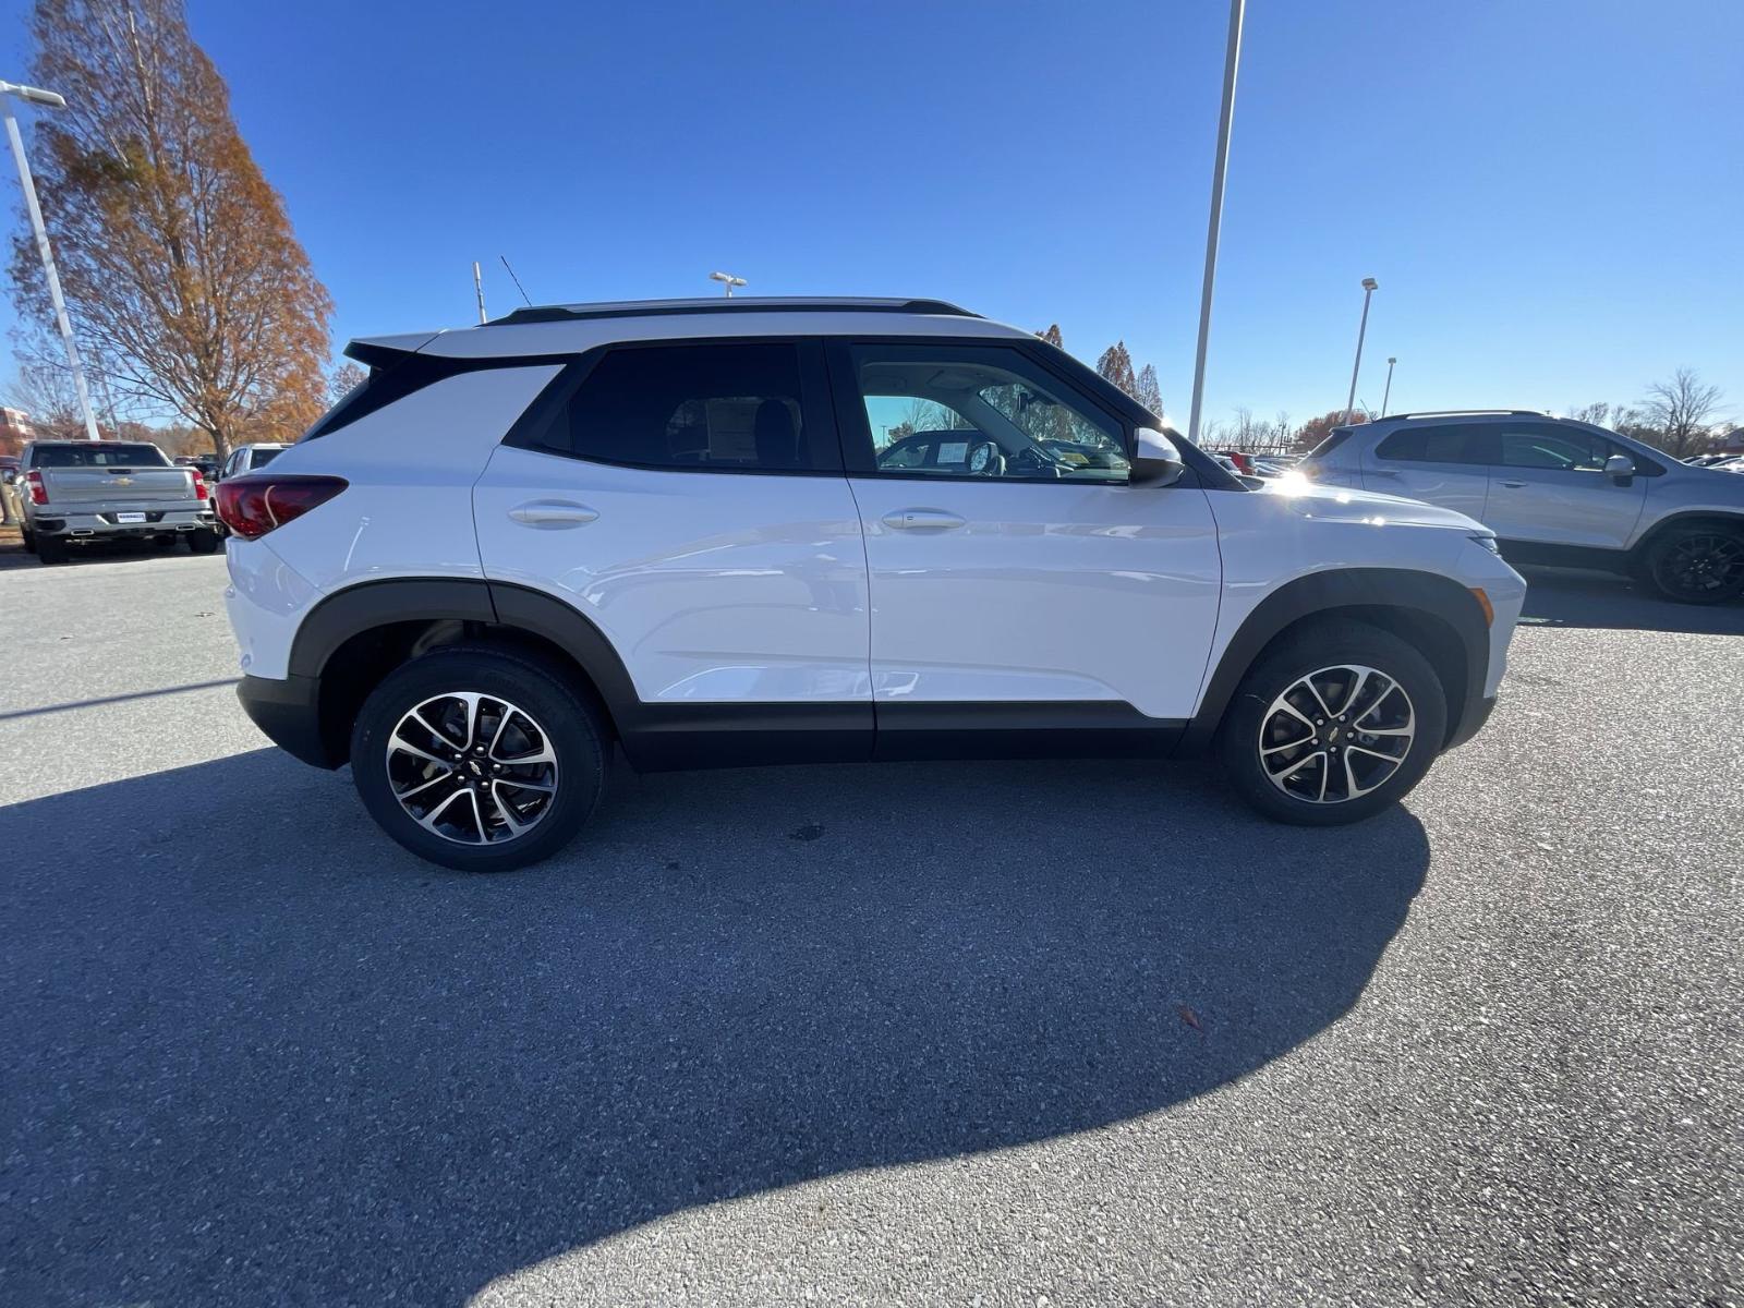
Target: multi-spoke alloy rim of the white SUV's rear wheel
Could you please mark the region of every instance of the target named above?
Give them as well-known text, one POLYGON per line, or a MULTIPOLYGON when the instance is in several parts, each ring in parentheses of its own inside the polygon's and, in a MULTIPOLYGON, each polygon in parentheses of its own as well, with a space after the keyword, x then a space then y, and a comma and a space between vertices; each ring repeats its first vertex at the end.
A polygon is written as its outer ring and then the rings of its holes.
POLYGON ((556 800, 551 736, 525 708, 450 691, 408 710, 387 738, 387 781, 399 807, 457 844, 513 841, 556 800))

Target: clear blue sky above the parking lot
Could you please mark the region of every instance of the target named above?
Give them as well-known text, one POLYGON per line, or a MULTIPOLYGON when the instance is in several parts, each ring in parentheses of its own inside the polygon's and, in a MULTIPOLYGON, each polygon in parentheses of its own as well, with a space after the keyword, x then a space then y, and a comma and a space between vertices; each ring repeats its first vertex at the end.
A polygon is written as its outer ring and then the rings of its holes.
MULTIPOLYGON (((1226 5, 188 0, 352 335, 534 300, 931 295, 1184 426, 1226 5)), ((26 5, 0 0, 0 77, 26 5)), ((16 185, 7 171, 16 209, 16 185)), ((1249 0, 1207 415, 1636 399, 1744 417, 1744 5, 1249 0)), ((21 221, 21 218, 16 218, 21 221)), ((10 326, 10 305, 0 326, 10 326)))

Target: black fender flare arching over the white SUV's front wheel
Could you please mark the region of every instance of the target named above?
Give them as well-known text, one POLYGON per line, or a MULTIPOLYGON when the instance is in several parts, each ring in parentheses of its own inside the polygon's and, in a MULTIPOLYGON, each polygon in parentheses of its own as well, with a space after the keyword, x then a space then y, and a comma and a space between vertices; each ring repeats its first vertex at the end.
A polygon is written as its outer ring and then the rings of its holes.
POLYGON ((1479 712, 1489 671, 1489 619, 1477 596, 1435 572, 1334 569, 1310 572, 1278 586, 1242 621, 1205 685, 1198 713, 1181 738, 1181 753, 1196 753, 1210 745, 1247 670, 1278 633, 1305 617, 1348 609, 1400 610, 1416 616, 1418 623, 1427 617, 1451 628, 1463 654, 1465 684, 1446 687, 1448 739, 1449 743, 1465 739, 1467 719, 1479 712))

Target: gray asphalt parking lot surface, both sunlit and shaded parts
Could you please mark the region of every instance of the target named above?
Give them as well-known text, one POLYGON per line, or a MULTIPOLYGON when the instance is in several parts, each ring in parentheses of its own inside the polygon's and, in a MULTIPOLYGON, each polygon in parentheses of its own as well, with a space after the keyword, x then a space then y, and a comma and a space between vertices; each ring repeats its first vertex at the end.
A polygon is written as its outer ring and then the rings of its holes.
POLYGON ((494 879, 0 570, 0 1303, 1744 1303, 1744 607, 1536 574, 1369 825, 1200 766, 619 771, 494 879))

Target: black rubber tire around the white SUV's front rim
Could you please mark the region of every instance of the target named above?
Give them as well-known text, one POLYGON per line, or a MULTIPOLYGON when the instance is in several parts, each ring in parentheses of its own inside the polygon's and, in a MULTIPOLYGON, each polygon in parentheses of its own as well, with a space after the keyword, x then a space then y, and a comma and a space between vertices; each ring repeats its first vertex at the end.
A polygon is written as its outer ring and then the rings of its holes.
MULTIPOLYGON (((1289 703, 1296 706, 1298 698, 1289 703)), ((1303 701, 1311 705, 1313 701, 1303 701)), ((1219 731, 1217 752, 1224 771, 1236 794, 1250 806, 1277 821, 1289 821, 1299 827, 1341 827, 1352 821, 1373 818, 1385 807, 1402 799, 1441 753, 1448 738, 1448 696, 1441 678, 1414 647, 1399 637, 1381 631, 1376 626, 1357 621, 1325 621, 1305 626, 1278 640, 1261 654, 1259 661, 1242 678, 1240 689, 1224 715, 1219 731), (1320 726, 1305 724, 1301 729, 1313 731, 1303 736, 1303 748, 1278 745, 1294 739, 1296 717, 1287 710, 1273 712, 1273 703, 1289 694, 1305 677, 1320 670, 1336 670, 1345 664, 1371 668, 1393 682, 1404 692, 1404 701, 1393 691, 1376 698, 1383 684, 1373 677, 1362 682, 1350 675, 1317 680, 1325 706, 1332 712, 1327 719, 1310 706, 1310 715, 1320 726), (1341 696, 1348 696, 1341 701, 1341 696), (1350 701, 1355 701, 1353 705, 1350 701), (1385 703, 1383 703, 1385 701, 1385 703), (1371 715, 1369 710, 1374 710, 1371 715), (1390 753, 1392 736, 1360 736, 1357 755, 1339 753, 1346 750, 1350 739, 1350 722, 1367 719, 1380 729, 1381 726, 1402 726, 1404 712, 1411 713, 1414 734, 1406 741, 1404 752, 1388 767, 1381 753, 1390 753), (1390 722, 1386 719, 1392 719, 1390 722), (1266 731, 1268 753, 1261 755, 1261 731, 1266 731), (1310 755, 1320 755, 1315 762, 1310 755), (1268 760, 1271 767, 1268 767, 1268 760), (1282 773, 1294 764, 1301 764, 1299 780, 1280 787, 1273 773, 1282 773), (1332 802, 1318 802, 1311 794, 1315 783, 1327 780, 1327 794, 1332 802), (1338 792, 1352 792, 1352 783, 1360 794, 1339 799, 1338 792), (1373 783, 1373 788, 1366 788, 1373 783)), ((1397 738, 1404 739, 1404 738, 1397 738)))

